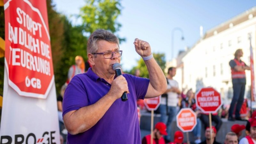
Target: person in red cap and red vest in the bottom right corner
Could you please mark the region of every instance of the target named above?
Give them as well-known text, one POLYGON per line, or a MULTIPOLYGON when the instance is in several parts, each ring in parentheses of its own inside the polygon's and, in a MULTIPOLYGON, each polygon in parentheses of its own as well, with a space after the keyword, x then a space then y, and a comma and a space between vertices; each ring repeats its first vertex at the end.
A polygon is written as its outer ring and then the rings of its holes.
POLYGON ((255 144, 256 143, 256 120, 252 121, 250 135, 245 136, 239 141, 239 144, 255 144))

